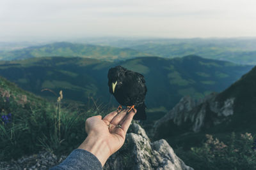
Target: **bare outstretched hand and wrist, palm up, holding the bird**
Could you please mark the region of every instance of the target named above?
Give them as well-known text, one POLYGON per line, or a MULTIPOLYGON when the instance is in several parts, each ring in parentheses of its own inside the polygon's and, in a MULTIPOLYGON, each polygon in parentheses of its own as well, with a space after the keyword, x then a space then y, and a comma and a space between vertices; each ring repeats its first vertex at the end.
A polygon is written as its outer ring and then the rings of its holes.
POLYGON ((103 119, 100 115, 88 118, 85 125, 88 136, 78 148, 93 153, 103 167, 108 157, 124 145, 125 134, 136 113, 131 110, 127 115, 127 111, 113 111, 103 119))

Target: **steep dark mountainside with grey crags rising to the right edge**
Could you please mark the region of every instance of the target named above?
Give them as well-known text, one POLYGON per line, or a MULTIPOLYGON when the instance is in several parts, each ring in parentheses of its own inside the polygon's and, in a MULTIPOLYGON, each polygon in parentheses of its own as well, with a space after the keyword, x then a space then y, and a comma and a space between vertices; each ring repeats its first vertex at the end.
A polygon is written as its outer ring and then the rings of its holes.
MULTIPOLYGON (((154 124, 154 137, 186 136, 191 132, 255 132, 256 67, 220 94, 201 101, 183 97, 154 124)), ((196 137, 195 137, 196 138, 196 137)))

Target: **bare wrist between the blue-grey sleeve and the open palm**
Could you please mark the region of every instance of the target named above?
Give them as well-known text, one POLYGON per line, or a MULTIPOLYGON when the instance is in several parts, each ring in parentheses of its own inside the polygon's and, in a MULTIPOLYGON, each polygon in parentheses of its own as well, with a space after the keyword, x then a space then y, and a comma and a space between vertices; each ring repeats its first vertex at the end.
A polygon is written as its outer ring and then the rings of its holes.
POLYGON ((95 138, 93 135, 88 135, 78 148, 95 155, 99 159, 102 167, 111 155, 106 141, 102 138, 95 138))

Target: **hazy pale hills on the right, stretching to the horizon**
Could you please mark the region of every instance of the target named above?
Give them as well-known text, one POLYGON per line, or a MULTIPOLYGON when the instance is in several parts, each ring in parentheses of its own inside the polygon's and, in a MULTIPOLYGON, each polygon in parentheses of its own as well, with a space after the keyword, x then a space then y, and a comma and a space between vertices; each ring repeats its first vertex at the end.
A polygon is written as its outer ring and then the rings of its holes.
POLYGON ((159 57, 199 55, 207 59, 256 65, 256 38, 94 38, 81 42, 131 48, 159 57))

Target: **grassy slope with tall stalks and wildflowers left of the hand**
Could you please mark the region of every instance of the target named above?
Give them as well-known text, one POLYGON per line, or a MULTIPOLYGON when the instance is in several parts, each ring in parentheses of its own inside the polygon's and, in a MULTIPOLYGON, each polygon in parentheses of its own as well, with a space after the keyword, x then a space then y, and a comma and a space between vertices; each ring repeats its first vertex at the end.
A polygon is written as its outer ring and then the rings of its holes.
POLYGON ((56 104, 19 89, 0 77, 0 160, 47 150, 70 153, 86 137, 86 118, 101 114, 102 108, 88 110, 62 107, 62 93, 56 104))

